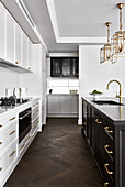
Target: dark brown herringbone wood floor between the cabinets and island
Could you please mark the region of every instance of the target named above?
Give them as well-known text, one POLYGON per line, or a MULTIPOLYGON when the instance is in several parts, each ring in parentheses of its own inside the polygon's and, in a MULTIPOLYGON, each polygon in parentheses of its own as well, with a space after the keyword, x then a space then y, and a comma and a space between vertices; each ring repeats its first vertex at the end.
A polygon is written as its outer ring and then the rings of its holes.
POLYGON ((4 187, 102 187, 77 119, 48 119, 4 187))

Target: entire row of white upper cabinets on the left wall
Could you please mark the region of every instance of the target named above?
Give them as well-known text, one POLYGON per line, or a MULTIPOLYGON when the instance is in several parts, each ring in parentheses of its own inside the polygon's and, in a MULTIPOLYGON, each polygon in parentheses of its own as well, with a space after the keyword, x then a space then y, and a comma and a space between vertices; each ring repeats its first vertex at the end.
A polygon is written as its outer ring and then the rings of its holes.
POLYGON ((0 25, 0 66, 21 73, 31 72, 33 43, 2 3, 0 25))

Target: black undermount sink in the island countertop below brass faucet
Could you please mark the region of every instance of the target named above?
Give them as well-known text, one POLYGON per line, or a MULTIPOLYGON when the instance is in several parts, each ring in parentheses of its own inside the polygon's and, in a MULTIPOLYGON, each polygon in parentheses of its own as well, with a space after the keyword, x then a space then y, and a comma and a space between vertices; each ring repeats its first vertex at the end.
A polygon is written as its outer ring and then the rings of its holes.
POLYGON ((98 103, 100 106, 102 105, 110 105, 110 106, 124 106, 123 103, 113 101, 113 100, 94 100, 94 103, 98 103))

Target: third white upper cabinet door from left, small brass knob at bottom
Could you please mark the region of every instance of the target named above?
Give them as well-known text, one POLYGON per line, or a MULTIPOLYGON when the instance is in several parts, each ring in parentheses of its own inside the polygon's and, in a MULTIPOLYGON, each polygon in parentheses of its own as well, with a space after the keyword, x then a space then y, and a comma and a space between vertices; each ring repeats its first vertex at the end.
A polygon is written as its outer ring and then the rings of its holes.
POLYGON ((15 50, 14 50, 14 62, 15 64, 21 64, 21 28, 15 24, 15 50))

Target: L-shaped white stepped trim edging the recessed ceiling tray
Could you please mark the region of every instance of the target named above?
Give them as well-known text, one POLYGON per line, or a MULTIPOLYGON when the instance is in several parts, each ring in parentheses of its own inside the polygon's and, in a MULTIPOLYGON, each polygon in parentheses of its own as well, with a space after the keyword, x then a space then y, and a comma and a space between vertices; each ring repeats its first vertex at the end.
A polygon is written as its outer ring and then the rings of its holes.
POLYGON ((59 36, 59 29, 57 23, 57 15, 53 0, 46 0, 48 13, 50 16, 55 38, 57 43, 82 43, 82 44, 104 44, 106 37, 63 37, 59 36))

